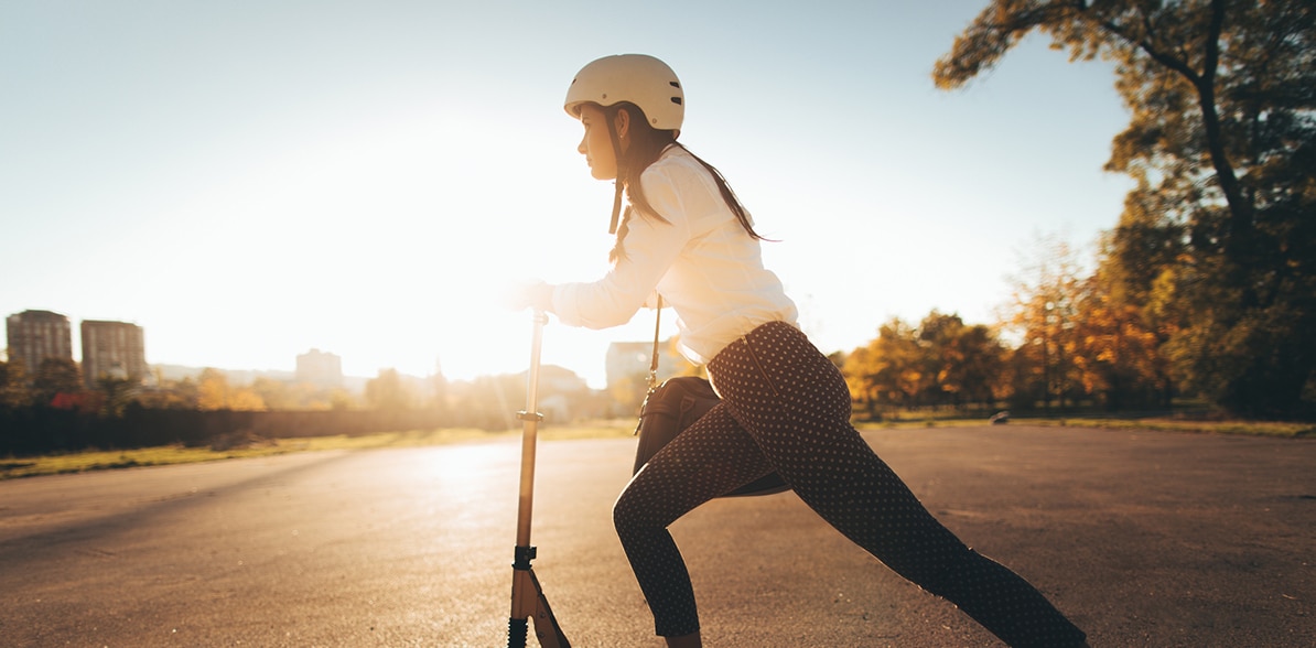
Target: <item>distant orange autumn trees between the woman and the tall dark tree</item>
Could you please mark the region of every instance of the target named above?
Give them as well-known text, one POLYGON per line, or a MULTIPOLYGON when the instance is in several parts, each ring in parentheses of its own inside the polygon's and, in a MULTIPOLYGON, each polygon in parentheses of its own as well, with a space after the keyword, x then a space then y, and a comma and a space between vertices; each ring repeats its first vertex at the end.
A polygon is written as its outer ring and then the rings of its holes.
POLYGON ((861 412, 955 407, 1165 410, 1191 395, 1138 312, 1112 303, 1100 273, 1083 277, 1073 249, 1044 238, 1015 278, 994 325, 930 312, 892 319, 838 358, 861 412))

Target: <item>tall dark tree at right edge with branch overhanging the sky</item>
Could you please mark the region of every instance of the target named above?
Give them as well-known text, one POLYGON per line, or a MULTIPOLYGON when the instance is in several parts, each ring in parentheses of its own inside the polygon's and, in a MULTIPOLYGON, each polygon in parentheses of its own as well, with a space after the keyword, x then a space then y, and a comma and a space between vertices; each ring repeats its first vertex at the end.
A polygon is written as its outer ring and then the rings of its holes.
POLYGON ((1316 5, 996 0, 937 62, 937 86, 1033 30, 1071 59, 1113 61, 1132 112, 1107 163, 1138 182, 1112 296, 1177 317, 1165 349, 1187 387, 1241 414, 1295 412, 1316 369, 1316 5))

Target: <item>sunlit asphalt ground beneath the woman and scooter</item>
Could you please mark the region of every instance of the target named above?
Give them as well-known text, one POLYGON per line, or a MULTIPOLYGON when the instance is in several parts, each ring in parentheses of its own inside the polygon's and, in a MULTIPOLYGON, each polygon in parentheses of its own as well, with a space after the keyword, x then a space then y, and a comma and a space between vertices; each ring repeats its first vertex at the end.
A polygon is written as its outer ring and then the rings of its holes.
MULTIPOLYGON (((1316 645, 1316 441, 866 437, 1094 647, 1316 645)), ((659 645, 611 527, 632 453, 540 444, 534 572, 576 647, 659 645)), ((519 462, 504 440, 0 482, 0 645, 505 645, 519 462)), ((1000 645, 791 494, 672 533, 711 647, 1000 645)))

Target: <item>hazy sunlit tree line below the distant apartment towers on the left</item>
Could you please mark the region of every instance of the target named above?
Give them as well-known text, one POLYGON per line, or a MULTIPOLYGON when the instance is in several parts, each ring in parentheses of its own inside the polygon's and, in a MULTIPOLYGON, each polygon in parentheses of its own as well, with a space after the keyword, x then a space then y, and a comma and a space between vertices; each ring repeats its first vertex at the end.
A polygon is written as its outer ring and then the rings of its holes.
MULTIPOLYGON (((29 375, 21 360, 0 362, 0 456, 183 444, 228 448, 259 439, 367 435, 404 429, 520 425, 525 375, 426 381, 386 369, 357 398, 342 389, 258 378, 230 385, 205 369, 196 379, 147 386, 141 378, 101 377, 84 389, 76 362, 47 358, 29 375)), ((561 367, 541 375, 546 423, 597 418, 604 399, 561 367), (554 379, 557 378, 557 379, 554 379), (582 389, 563 386, 579 385, 582 389)))

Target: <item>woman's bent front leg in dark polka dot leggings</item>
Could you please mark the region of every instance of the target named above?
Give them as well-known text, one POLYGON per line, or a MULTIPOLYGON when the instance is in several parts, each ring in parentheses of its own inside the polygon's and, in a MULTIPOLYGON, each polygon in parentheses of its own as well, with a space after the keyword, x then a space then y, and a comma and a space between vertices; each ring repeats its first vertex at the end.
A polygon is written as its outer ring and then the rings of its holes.
POLYGON ((699 645, 699 615, 690 573, 667 526, 769 472, 754 440, 719 404, 654 454, 617 498, 612 510, 617 537, 649 601, 654 631, 674 645, 699 645))

